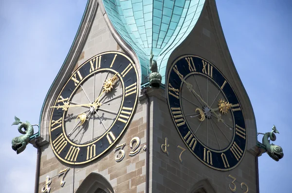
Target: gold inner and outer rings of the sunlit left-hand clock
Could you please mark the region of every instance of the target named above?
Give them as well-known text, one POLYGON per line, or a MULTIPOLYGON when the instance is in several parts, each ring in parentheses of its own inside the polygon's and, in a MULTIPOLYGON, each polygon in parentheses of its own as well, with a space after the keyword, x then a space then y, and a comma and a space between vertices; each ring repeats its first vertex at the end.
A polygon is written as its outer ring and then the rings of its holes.
MULTIPOLYGON (((58 155, 58 153, 56 152, 56 150, 54 149, 54 147, 53 147, 52 131, 51 131, 51 127, 52 127, 52 126, 51 126, 51 123, 52 123, 52 120, 53 120, 53 115, 54 115, 54 110, 55 110, 55 108, 53 108, 53 109, 50 111, 50 122, 49 122, 49 127, 48 127, 48 129, 49 129, 49 138, 50 138, 50 146, 51 146, 51 148, 52 148, 52 150, 53 150, 55 156, 56 156, 58 159, 60 159, 61 161, 65 162, 65 163, 68 163, 68 164, 74 164, 74 165, 85 164, 85 163, 88 163, 88 162, 94 161, 94 160, 98 159, 100 156, 104 155, 104 153, 105 153, 106 151, 108 151, 113 145, 116 144, 116 142, 117 142, 118 140, 120 140, 120 137, 125 133, 125 130, 128 129, 128 126, 129 126, 129 124, 131 123, 131 120, 132 120, 132 118, 133 118, 133 115, 135 114, 136 107, 137 107, 137 101, 138 101, 138 98, 139 98, 139 85, 140 85, 140 84, 139 84, 139 74, 138 74, 138 71, 137 71, 137 68, 136 68, 136 64, 133 62, 133 60, 132 60, 129 56, 127 56, 125 53, 123 53, 123 52, 119 52, 119 51, 106 51, 106 52, 102 52, 102 53, 99 53, 99 54, 96 54, 96 55, 92 56, 90 59, 88 59, 87 61, 83 62, 83 63, 82 63, 82 64, 81 64, 76 70, 74 70, 74 71, 72 72, 71 76, 65 81, 65 83, 64 83, 63 86, 62 86, 62 89, 58 92, 57 97, 55 97, 55 99, 54 99, 55 102, 52 103, 52 104, 53 104, 53 105, 56 105, 56 104, 57 104, 57 100, 58 100, 59 96, 61 96, 63 89, 66 87, 66 85, 67 85, 68 82, 71 80, 71 78, 74 76, 74 74, 75 74, 75 73, 76 73, 76 72, 77 72, 77 71, 78 71, 83 65, 89 63, 93 58, 96 58, 96 57, 98 57, 98 56, 102 56, 102 55, 105 55, 105 54, 119 54, 119 55, 122 55, 123 57, 125 57, 125 58, 128 60, 128 62, 129 62, 130 64, 132 64, 131 66, 132 66, 133 69, 134 69, 135 76, 136 76, 135 78, 136 78, 136 82, 137 82, 137 88, 134 89, 134 90, 136 91, 136 94, 135 94, 136 97, 135 97, 134 105, 133 105, 133 107, 132 107, 132 112, 131 112, 131 114, 129 115, 128 122, 126 123, 125 127, 122 129, 122 131, 119 133, 119 135, 118 135, 117 137, 115 137, 115 140, 112 140, 112 143, 111 143, 106 149, 104 149, 104 151, 102 151, 101 153, 99 153, 99 155, 96 155, 94 158, 89 159, 89 160, 87 160, 87 161, 75 162, 75 161, 67 161, 67 160, 65 160, 64 158, 60 157, 60 156, 58 155)), ((88 75, 87 75, 82 81, 80 81, 80 82, 78 83, 78 85, 75 87, 75 89, 73 90, 72 94, 70 95, 69 99, 72 98, 72 97, 74 96, 73 94, 76 92, 77 88, 79 88, 80 85, 81 85, 83 82, 85 82, 86 80, 88 80, 92 75, 94 76, 94 74, 98 74, 99 72, 106 71, 105 69, 109 69, 109 68, 101 68, 101 69, 94 70, 93 72, 89 73, 89 74, 88 74, 88 75)), ((110 69, 110 71, 113 71, 113 69, 110 69)), ((122 85, 123 85, 123 99, 121 100, 121 104, 120 104, 120 108, 119 108, 118 114, 116 115, 116 119, 115 119, 115 121, 111 124, 110 128, 107 129, 107 131, 106 131, 102 136, 100 136, 98 139, 96 139, 95 141, 93 141, 93 142, 91 142, 91 143, 88 143, 88 144, 82 144, 82 145, 74 144, 74 143, 68 138, 68 136, 67 136, 67 134, 66 134, 66 131, 65 131, 65 129, 64 129, 64 115, 65 115, 66 111, 63 112, 63 115, 62 115, 62 126, 61 126, 61 127, 62 127, 62 133, 65 134, 65 138, 66 138, 66 140, 67 140, 71 145, 74 145, 75 147, 83 147, 83 146, 87 146, 87 145, 93 145, 94 143, 97 143, 100 139, 102 139, 102 137, 103 137, 104 135, 107 135, 107 133, 110 132, 110 129, 112 128, 112 126, 114 125, 114 123, 117 121, 117 117, 119 116, 119 114, 120 114, 121 111, 122 111, 122 105, 123 105, 123 103, 124 103, 125 94, 126 94, 126 93, 125 93, 125 83, 124 83, 124 80, 121 78, 121 74, 120 74, 120 72, 118 73, 118 76, 119 76, 119 78, 120 78, 120 80, 121 80, 121 82, 122 82, 122 85)), ((68 101, 69 101, 69 99, 68 99, 68 101)), ((51 107, 51 105, 50 105, 50 107, 51 107)), ((97 147, 97 148, 98 148, 98 147, 97 147)), ((70 150, 69 150, 69 151, 70 151, 70 150)))

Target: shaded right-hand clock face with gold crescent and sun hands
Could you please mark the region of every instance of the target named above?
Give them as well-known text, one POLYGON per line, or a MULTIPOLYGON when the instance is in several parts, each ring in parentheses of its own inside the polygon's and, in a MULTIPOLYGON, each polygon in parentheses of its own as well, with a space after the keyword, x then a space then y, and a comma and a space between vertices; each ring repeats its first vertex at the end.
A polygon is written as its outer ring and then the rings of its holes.
POLYGON ((185 55, 172 64, 167 81, 169 111, 188 149, 214 169, 236 167, 247 133, 243 109, 228 80, 205 59, 185 55))

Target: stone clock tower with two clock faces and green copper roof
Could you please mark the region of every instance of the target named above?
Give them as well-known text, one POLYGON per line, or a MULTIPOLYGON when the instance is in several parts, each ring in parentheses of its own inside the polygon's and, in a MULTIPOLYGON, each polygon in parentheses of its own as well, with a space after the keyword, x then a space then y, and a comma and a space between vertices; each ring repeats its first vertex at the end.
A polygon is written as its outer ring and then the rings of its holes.
POLYGON ((88 0, 39 128, 38 193, 258 192, 214 0, 88 0))

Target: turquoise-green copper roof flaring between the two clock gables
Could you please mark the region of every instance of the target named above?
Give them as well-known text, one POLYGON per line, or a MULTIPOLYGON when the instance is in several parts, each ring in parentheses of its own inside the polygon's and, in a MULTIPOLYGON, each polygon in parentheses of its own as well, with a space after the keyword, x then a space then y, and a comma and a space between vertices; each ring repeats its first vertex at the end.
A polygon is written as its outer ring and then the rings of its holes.
POLYGON ((142 84, 150 73, 150 51, 157 60, 162 83, 171 52, 194 28, 205 0, 103 0, 112 25, 136 52, 142 84))

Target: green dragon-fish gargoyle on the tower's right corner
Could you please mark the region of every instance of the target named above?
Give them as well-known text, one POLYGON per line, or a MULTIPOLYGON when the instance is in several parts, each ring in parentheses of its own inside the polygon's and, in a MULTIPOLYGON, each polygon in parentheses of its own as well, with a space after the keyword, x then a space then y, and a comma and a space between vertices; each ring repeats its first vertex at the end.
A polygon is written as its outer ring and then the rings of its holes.
POLYGON ((263 134, 263 145, 266 146, 266 152, 267 154, 274 160, 274 161, 279 161, 280 159, 283 158, 284 153, 282 147, 279 145, 274 145, 273 143, 270 144, 269 138, 274 142, 276 140, 276 135, 275 133, 279 133, 279 131, 276 129, 274 126, 272 128, 272 132, 267 132, 267 133, 259 133, 263 134))

